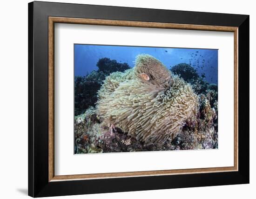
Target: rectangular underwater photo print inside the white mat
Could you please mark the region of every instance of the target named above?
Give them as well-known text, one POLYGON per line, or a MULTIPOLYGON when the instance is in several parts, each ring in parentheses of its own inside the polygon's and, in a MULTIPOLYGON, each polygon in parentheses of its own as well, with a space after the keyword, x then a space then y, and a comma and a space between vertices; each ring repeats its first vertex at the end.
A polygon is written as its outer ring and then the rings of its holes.
POLYGON ((218 148, 218 50, 74 44, 74 153, 218 148))

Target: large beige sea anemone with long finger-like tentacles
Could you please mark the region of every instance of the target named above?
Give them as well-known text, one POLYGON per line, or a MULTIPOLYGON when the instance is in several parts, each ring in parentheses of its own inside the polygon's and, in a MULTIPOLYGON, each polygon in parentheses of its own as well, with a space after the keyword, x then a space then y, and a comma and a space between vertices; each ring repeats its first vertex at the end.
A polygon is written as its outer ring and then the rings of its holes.
POLYGON ((135 67, 111 73, 98 91, 96 113, 145 143, 164 143, 195 117, 198 97, 190 84, 148 54, 135 67))

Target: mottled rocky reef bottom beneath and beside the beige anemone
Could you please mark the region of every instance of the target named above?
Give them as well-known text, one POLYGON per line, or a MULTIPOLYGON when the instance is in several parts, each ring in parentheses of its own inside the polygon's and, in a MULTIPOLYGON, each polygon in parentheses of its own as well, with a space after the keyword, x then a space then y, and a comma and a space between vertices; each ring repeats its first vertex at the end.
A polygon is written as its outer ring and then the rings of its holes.
POLYGON ((217 113, 204 94, 194 119, 184 122, 182 131, 164 143, 145 143, 134 134, 101 122, 94 107, 75 117, 75 153, 113 153, 218 148, 217 113))

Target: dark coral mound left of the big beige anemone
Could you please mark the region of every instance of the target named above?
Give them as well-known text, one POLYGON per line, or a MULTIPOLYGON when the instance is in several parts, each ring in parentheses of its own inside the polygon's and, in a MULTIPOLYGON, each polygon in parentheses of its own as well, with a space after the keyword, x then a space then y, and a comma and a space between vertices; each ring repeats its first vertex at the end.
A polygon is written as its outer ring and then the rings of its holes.
POLYGON ((100 59, 97 66, 99 68, 97 71, 87 76, 76 76, 74 79, 75 115, 84 113, 89 106, 95 106, 97 91, 110 73, 123 72, 130 68, 127 63, 118 63, 109 58, 100 59))

